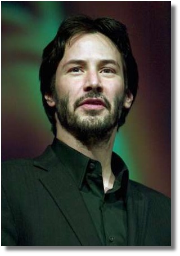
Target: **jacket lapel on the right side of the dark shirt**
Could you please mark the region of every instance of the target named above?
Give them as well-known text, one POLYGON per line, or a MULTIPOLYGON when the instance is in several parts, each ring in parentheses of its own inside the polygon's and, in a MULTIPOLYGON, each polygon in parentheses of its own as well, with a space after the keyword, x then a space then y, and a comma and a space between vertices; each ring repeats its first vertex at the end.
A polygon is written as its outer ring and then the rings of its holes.
POLYGON ((127 198, 128 245, 143 245, 148 203, 148 199, 129 184, 127 198))

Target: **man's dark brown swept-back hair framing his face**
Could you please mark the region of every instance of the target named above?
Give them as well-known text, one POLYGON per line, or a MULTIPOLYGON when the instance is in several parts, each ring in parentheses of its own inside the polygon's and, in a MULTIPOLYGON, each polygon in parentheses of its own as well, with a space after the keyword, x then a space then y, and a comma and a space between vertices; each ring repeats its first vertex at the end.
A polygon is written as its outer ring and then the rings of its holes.
MULTIPOLYGON (((45 94, 53 95, 55 90, 55 73, 61 61, 65 46, 70 39, 80 33, 102 33, 118 48, 123 59, 123 71, 126 93, 133 94, 133 101, 138 88, 138 70, 133 57, 127 29, 123 23, 113 18, 92 19, 86 15, 75 15, 65 19, 60 25, 55 38, 43 51, 42 64, 39 70, 40 92, 42 93, 43 106, 52 124, 52 132, 56 135, 55 107, 48 106, 45 94)), ((129 109, 123 108, 118 128, 125 123, 129 109)))

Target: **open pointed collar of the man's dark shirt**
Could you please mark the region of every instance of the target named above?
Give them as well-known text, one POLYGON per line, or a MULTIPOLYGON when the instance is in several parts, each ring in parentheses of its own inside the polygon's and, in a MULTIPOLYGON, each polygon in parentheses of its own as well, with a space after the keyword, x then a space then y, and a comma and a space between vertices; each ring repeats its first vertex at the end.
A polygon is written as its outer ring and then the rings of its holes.
MULTIPOLYGON (((88 168, 91 168, 91 165, 93 164, 101 165, 101 163, 97 160, 88 158, 86 155, 83 155, 57 138, 53 140, 52 150, 55 152, 57 157, 61 159, 61 162, 67 168, 70 175, 73 176, 79 189, 82 187, 82 183, 88 168)), ((115 175, 115 178, 120 180, 124 194, 123 197, 126 197, 129 179, 128 168, 122 158, 120 158, 119 155, 114 152, 112 153, 111 157, 111 169, 115 175)))

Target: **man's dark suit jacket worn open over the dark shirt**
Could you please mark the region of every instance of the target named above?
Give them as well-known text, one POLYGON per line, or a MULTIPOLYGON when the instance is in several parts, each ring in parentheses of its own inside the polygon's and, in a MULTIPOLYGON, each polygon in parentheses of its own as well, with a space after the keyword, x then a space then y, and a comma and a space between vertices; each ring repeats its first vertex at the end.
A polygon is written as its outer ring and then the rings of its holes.
MULTIPOLYGON (((170 199, 128 183, 128 245, 170 245, 170 199)), ((2 164, 2 245, 102 245, 73 177, 51 146, 2 164)))

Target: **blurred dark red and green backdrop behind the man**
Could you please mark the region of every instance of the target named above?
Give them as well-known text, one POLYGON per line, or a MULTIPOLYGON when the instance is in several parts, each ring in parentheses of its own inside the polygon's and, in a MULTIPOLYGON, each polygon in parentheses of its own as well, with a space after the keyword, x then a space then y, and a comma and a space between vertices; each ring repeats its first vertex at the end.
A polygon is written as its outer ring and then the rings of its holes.
POLYGON ((140 89, 114 150, 130 177, 170 196, 170 2, 1 2, 2 159, 35 157, 53 136, 42 107, 43 48, 71 14, 127 25, 140 89))

